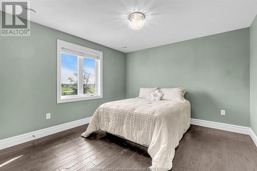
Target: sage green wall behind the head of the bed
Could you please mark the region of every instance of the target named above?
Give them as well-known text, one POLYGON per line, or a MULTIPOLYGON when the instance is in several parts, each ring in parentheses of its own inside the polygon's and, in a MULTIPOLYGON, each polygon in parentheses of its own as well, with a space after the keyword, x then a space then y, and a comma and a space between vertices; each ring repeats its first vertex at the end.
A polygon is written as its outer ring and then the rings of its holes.
POLYGON ((192 118, 249 126, 249 28, 127 53, 126 98, 155 86, 185 87, 192 118))

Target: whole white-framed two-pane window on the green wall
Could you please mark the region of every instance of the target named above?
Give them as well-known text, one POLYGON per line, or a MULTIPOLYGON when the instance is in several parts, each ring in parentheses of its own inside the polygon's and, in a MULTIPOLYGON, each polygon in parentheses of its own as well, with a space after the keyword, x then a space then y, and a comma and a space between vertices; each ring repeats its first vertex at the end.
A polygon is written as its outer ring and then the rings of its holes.
POLYGON ((103 97, 103 52, 57 40, 57 103, 103 97))

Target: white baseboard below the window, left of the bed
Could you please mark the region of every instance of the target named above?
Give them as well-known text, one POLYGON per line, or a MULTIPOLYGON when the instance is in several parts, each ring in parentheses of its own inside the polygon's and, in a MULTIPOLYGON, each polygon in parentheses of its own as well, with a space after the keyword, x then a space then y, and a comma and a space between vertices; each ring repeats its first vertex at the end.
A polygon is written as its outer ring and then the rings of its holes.
POLYGON ((0 150, 89 123, 91 117, 0 140, 0 150))

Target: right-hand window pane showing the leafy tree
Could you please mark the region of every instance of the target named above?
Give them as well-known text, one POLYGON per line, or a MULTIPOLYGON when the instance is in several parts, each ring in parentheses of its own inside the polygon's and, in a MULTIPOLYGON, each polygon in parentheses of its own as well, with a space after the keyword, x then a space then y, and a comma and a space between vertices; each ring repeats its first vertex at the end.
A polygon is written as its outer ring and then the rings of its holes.
POLYGON ((96 60, 83 58, 83 93, 96 94, 96 60))

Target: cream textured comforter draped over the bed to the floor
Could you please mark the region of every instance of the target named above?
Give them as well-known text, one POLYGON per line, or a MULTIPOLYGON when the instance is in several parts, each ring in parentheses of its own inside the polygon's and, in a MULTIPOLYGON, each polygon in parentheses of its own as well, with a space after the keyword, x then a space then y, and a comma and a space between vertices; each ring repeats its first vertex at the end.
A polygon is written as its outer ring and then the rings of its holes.
POLYGON ((152 170, 172 168, 175 148, 190 126, 190 103, 133 98, 102 104, 83 137, 104 130, 149 146, 152 170), (161 168, 161 169, 160 169, 161 168))

